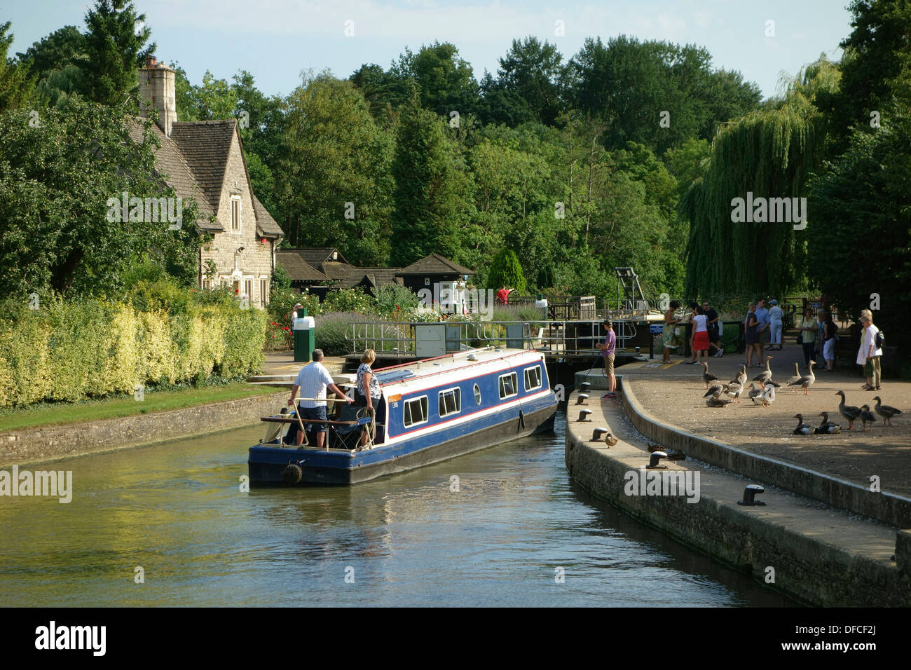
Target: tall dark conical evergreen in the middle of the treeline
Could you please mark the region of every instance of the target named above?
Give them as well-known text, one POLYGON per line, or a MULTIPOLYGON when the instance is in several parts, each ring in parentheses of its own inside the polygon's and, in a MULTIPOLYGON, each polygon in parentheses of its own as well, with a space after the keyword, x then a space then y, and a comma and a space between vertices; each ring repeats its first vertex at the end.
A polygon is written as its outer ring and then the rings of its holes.
POLYGON ((404 267, 430 253, 461 260, 462 229, 472 218, 471 181, 444 122, 413 98, 396 135, 391 261, 404 267))

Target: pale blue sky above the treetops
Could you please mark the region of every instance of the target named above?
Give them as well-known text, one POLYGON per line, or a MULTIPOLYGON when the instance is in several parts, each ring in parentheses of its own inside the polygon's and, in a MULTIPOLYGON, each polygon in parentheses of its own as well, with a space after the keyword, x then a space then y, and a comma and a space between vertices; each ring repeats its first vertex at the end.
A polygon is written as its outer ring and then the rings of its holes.
MULTIPOLYGON (((589 36, 625 34, 709 49, 713 67, 738 70, 764 97, 783 73, 821 54, 838 59, 851 31, 847 0, 133 0, 146 15, 159 61, 178 62, 194 84, 208 69, 230 79, 249 70, 264 93, 286 95, 306 70, 348 77, 384 68, 407 46, 452 42, 474 67, 496 75, 513 39, 556 44, 564 60, 589 36)), ((10 55, 59 27, 85 29, 87 0, 0 0, 13 22, 10 55)))

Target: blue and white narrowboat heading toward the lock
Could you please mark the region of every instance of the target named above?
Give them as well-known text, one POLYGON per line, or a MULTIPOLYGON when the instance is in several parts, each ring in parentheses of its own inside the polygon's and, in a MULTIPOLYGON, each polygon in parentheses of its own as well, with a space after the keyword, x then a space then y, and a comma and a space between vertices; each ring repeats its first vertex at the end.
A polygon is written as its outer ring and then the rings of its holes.
MULTIPOLYGON (((535 350, 471 349, 374 374, 383 392, 375 417, 330 403, 322 449, 312 435, 296 446, 305 425, 294 410, 263 417, 266 437, 248 459, 251 486, 356 484, 553 429, 557 397, 535 350)), ((353 375, 335 381, 353 393, 353 375)))

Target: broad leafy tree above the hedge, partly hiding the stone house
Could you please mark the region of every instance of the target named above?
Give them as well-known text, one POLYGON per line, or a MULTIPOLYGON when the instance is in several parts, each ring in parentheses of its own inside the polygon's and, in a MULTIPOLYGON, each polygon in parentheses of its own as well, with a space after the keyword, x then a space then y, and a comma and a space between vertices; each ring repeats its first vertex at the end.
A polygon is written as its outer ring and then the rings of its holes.
POLYGON ((150 122, 137 144, 127 114, 126 104, 74 97, 45 110, 36 128, 26 110, 0 115, 0 292, 117 294, 138 255, 183 283, 195 281, 202 238, 194 201, 183 203, 179 230, 108 217, 108 199, 119 201, 124 191, 174 195, 155 173, 150 122))

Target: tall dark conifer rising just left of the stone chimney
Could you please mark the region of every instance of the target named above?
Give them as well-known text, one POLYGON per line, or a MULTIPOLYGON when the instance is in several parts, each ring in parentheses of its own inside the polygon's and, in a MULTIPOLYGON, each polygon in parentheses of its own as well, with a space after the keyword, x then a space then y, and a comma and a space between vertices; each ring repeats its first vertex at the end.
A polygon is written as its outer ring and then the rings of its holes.
POLYGON ((146 15, 128 0, 96 0, 86 12, 86 53, 77 62, 80 93, 102 104, 116 104, 138 86, 138 68, 155 53, 147 44, 146 15))

